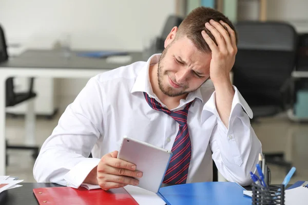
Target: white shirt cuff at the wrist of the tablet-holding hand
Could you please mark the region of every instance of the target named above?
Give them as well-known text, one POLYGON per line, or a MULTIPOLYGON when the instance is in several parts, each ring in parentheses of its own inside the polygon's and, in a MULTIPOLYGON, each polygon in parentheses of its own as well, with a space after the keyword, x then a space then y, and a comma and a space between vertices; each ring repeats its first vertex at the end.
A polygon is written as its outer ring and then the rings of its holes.
POLYGON ((78 189, 91 170, 98 166, 100 159, 86 158, 74 166, 65 176, 66 186, 78 189))

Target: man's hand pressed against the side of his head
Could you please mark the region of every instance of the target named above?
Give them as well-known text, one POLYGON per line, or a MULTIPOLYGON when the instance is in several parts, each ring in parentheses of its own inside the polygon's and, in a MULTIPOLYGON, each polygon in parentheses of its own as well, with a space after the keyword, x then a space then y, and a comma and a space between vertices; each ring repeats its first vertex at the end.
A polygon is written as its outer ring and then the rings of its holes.
POLYGON ((229 73, 235 63, 237 53, 235 32, 222 20, 216 22, 211 19, 205 27, 213 34, 217 42, 216 45, 206 32, 202 31, 202 36, 211 50, 210 79, 214 84, 221 80, 229 80, 229 73))

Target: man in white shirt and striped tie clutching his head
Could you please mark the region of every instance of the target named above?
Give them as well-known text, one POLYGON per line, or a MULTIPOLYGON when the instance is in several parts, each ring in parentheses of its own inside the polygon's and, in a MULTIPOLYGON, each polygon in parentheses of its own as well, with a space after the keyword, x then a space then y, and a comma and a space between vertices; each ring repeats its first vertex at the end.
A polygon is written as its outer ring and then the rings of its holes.
POLYGON ((74 188, 138 185, 138 167, 117 159, 127 135, 177 156, 163 183, 211 181, 213 158, 227 180, 249 185, 261 144, 251 109, 230 83, 236 45, 223 14, 193 10, 172 28, 161 55, 88 81, 44 142, 34 178, 74 188))

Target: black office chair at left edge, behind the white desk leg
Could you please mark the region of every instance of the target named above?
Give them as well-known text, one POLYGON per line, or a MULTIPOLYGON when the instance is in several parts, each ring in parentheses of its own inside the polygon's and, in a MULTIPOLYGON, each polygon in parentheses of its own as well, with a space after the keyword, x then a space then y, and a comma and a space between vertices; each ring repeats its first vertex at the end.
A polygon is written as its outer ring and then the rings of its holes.
MULTIPOLYGON (((8 60, 8 53, 7 53, 7 45, 4 30, 0 25, 0 63, 8 60)), ((9 77, 6 80, 6 107, 13 107, 20 103, 23 103, 27 100, 33 100, 36 94, 33 92, 33 81, 34 79, 30 79, 29 90, 27 92, 15 92, 14 91, 14 78, 9 77)), ((33 102, 31 102, 33 103, 33 102)), ((35 123, 35 122, 30 122, 35 123)), ((32 131, 34 133, 34 131, 32 131)), ((26 133, 28 134, 28 133, 26 133)), ((33 158, 38 156, 39 148, 37 146, 17 146, 17 145, 10 145, 6 140, 6 150, 8 149, 18 149, 18 150, 32 150, 33 151, 33 158)), ((6 152, 6 165, 8 165, 8 154, 6 152)))

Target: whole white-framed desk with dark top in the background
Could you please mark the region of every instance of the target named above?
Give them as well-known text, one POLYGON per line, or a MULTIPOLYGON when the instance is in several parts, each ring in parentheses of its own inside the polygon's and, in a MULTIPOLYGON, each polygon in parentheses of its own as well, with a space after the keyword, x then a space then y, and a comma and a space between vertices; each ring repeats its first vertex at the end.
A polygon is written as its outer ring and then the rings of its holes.
POLYGON ((99 73, 143 60, 141 52, 129 52, 125 64, 108 63, 105 58, 79 57, 72 52, 69 58, 59 51, 27 50, 20 56, 0 64, 0 175, 5 174, 5 81, 8 77, 90 78, 99 73))

